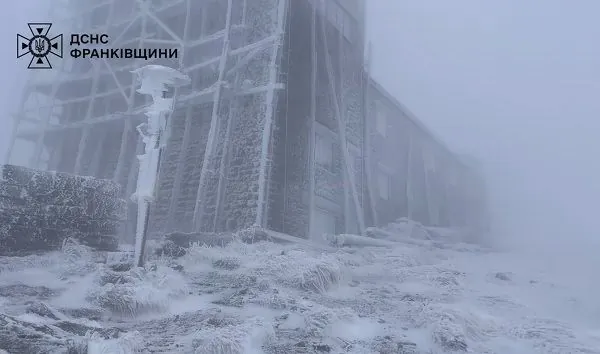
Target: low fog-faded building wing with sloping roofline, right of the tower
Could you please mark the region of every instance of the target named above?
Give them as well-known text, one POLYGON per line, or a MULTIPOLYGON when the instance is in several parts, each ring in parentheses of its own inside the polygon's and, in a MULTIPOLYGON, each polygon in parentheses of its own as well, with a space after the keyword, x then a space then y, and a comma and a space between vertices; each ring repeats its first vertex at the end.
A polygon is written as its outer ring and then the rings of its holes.
MULTIPOLYGON (((424 225, 475 227, 487 200, 483 176, 371 80, 367 153, 374 224, 406 217, 424 225)), ((480 225, 477 225, 478 227, 480 225)))

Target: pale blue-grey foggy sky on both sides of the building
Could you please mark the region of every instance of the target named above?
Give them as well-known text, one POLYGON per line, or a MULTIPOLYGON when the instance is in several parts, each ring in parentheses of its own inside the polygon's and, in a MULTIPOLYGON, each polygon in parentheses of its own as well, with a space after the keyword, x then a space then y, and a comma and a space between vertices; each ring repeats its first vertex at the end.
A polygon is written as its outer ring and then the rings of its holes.
MULTIPOLYGON (((16 14, 4 48, 47 4, 4 9, 16 14)), ((368 1, 375 77, 484 164, 499 244, 600 244, 599 12, 596 0, 368 1)), ((1 60, 4 156, 25 63, 1 60)))

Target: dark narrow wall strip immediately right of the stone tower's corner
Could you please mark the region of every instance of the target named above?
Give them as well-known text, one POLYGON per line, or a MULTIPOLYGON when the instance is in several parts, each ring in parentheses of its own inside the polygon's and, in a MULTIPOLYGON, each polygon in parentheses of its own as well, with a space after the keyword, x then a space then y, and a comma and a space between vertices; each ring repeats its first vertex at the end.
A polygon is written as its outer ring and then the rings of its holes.
POLYGON ((311 131, 311 21, 307 1, 292 1, 288 10, 281 71, 287 90, 278 105, 274 134, 274 168, 269 194, 272 230, 306 237, 309 223, 311 131))

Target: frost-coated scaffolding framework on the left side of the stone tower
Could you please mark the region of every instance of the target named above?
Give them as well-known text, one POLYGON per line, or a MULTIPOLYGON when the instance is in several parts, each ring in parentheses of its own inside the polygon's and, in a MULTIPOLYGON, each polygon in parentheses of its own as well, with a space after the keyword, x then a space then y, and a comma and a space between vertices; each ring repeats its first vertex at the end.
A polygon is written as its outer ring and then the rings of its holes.
MULTIPOLYGON (((82 59, 71 58, 66 50, 59 68, 51 74, 34 72, 15 114, 13 140, 8 161, 15 151, 27 146, 29 167, 109 178, 134 189, 139 153, 139 137, 134 127, 143 120, 147 97, 136 92, 132 70, 147 64, 178 69, 192 80, 190 87, 177 88, 173 95, 177 119, 190 128, 194 120, 210 122, 199 164, 195 191, 194 229, 200 229, 204 215, 206 180, 219 176, 222 194, 224 168, 229 147, 218 137, 229 136, 234 108, 244 97, 262 97, 255 102, 264 110, 263 141, 270 144, 273 102, 278 83, 276 60, 280 55, 287 0, 63 0, 62 10, 53 17, 65 33, 107 34, 110 48, 174 49, 173 59, 82 59), (44 75, 42 75, 44 74, 44 75), (46 75, 48 74, 48 75, 46 75), (210 116, 199 116, 194 107, 211 106, 210 116), (225 107, 228 106, 228 107, 225 107), (183 112, 183 113, 181 113, 183 112), (225 157, 223 157, 225 156, 225 157), (218 160, 218 161, 215 161, 218 160), (217 167, 215 167, 217 166, 217 167)), ((55 7, 57 8, 57 7, 55 7)), ((65 34, 65 41, 68 41, 65 34)), ((239 110, 239 109, 238 109, 239 110)), ((171 119, 172 121, 172 119, 171 119)), ((174 208, 184 169, 185 150, 191 141, 185 129, 178 141, 175 178, 168 201, 167 218, 174 223, 174 208)), ((266 160, 261 162, 256 223, 264 223, 268 175, 266 160)), ((217 209, 218 209, 217 201, 217 209)), ((217 210, 218 212, 218 210, 217 210)), ((213 220, 216 225, 216 217, 213 220)))

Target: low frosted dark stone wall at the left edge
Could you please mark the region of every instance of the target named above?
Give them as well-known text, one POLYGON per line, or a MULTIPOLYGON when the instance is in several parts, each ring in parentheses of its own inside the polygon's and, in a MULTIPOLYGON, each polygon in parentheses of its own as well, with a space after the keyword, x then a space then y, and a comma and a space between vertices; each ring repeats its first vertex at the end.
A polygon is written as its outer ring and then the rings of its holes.
POLYGON ((0 254, 58 249, 66 237, 117 249, 126 205, 118 184, 14 165, 0 171, 0 254))

